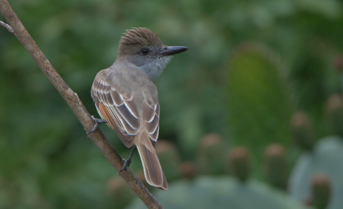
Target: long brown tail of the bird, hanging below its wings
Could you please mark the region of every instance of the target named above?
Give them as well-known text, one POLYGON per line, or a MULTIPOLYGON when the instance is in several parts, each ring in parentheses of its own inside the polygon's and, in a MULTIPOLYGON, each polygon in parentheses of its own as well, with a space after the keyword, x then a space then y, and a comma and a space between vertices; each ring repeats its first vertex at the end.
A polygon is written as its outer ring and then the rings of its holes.
POLYGON ((155 149, 151 151, 143 143, 138 143, 136 146, 142 160, 146 182, 159 189, 167 190, 167 179, 164 176, 155 149))

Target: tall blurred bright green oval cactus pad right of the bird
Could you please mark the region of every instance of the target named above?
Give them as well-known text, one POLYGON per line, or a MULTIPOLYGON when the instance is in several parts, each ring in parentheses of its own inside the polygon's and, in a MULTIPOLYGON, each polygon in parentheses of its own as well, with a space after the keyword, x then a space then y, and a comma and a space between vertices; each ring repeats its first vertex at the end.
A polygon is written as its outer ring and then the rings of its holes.
POLYGON ((237 47, 227 76, 228 128, 235 145, 260 155, 270 143, 291 144, 292 106, 278 55, 247 43, 237 47))

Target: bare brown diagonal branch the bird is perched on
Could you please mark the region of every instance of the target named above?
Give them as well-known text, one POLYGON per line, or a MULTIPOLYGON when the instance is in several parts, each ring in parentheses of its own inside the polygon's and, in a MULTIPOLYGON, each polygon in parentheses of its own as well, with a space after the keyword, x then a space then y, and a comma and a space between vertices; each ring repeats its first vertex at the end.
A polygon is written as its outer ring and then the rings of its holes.
MULTIPOLYGON (((16 35, 17 39, 23 44, 23 46, 35 60, 39 68, 43 71, 52 85, 54 85, 63 99, 67 102, 85 130, 90 131, 94 126, 94 122, 91 119, 90 114, 80 101, 78 95, 73 92, 73 90, 57 73, 55 68, 52 67, 49 60, 45 57, 43 52, 39 49, 35 41, 27 32, 24 25, 15 14, 7 0, 0 0, 0 11, 9 23, 8 25, 1 22, 0 25, 7 28, 10 32, 10 29, 13 29, 12 34, 16 35)), ((105 155, 111 165, 117 171, 119 171, 122 168, 123 160, 108 142, 102 131, 100 129, 97 129, 87 136, 105 155)), ((131 189, 137 194, 137 196, 148 208, 163 208, 162 205, 156 200, 156 198, 149 192, 149 190, 146 189, 143 183, 133 174, 131 169, 128 168, 126 170, 123 170, 120 173, 120 176, 127 182, 131 189)))

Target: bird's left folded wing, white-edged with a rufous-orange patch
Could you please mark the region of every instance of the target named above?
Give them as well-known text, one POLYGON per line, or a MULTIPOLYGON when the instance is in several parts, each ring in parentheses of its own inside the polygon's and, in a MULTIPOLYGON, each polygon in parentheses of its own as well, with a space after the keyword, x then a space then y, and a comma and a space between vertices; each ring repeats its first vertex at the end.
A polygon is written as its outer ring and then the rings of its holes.
POLYGON ((133 136, 141 128, 134 94, 119 94, 108 82, 100 79, 94 80, 91 94, 100 116, 116 131, 126 147, 131 147, 133 136))

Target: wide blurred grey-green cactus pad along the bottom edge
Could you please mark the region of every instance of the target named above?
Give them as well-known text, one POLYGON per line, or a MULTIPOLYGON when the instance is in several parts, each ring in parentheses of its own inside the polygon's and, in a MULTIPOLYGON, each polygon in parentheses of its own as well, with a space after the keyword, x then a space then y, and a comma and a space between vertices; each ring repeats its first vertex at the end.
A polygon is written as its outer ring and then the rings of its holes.
MULTIPOLYGON (((194 181, 178 181, 170 183, 167 191, 155 190, 154 195, 164 208, 305 208, 266 184, 257 181, 242 183, 233 177, 199 177, 194 181)), ((146 207, 137 199, 128 208, 146 207)))

